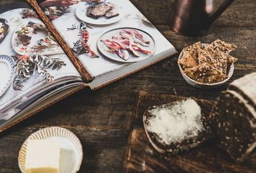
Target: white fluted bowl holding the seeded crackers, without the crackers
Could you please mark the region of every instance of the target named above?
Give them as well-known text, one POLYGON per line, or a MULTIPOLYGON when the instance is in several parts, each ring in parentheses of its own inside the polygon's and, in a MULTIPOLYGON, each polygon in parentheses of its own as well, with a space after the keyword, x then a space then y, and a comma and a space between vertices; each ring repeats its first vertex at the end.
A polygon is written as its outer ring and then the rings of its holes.
MULTIPOLYGON (((206 45, 207 44, 202 43, 201 48, 203 49, 206 45)), ((183 56, 183 50, 182 50, 182 52, 180 52, 179 59, 178 59, 178 65, 179 65, 180 73, 182 74, 182 77, 184 78, 184 80, 186 80, 186 82, 188 82, 188 84, 193 86, 193 87, 198 87, 200 89, 212 89, 212 88, 220 87, 223 84, 225 84, 225 82, 227 82, 232 77, 232 75, 234 73, 234 64, 231 64, 231 66, 229 66, 228 69, 227 69, 227 76, 228 76, 227 79, 225 79, 221 82, 218 82, 218 83, 214 83, 214 84, 200 83, 200 82, 197 82, 196 80, 191 79, 190 77, 188 77, 184 73, 182 67, 179 64, 179 60, 182 58, 182 56, 183 56)))

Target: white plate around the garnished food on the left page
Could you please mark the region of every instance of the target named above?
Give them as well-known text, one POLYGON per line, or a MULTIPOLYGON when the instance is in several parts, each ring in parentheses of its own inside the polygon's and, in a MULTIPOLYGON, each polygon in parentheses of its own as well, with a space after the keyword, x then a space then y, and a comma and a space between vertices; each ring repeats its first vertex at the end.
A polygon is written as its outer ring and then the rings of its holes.
MULTIPOLYGON (((31 21, 31 22, 33 22, 33 21, 31 21)), ((43 24, 41 22, 35 22, 35 23, 43 24)), ((44 39, 47 36, 48 31, 46 29, 45 30, 42 30, 42 29, 36 30, 36 34, 32 34, 32 36, 31 36, 32 37, 31 43, 29 45, 22 45, 21 41, 17 38, 17 35, 18 35, 17 31, 20 31, 22 29, 22 26, 24 26, 26 24, 28 24, 28 22, 23 23, 22 25, 17 27, 17 29, 15 29, 15 31, 13 32, 12 47, 15 50, 15 52, 17 52, 20 55, 38 54, 38 55, 44 55, 44 56, 49 56, 49 55, 54 55, 54 54, 64 54, 60 45, 58 45, 58 43, 56 41, 54 41, 56 43, 56 45, 53 45, 52 47, 48 47, 45 49, 33 49, 33 47, 36 45, 36 42, 38 40, 44 39)))

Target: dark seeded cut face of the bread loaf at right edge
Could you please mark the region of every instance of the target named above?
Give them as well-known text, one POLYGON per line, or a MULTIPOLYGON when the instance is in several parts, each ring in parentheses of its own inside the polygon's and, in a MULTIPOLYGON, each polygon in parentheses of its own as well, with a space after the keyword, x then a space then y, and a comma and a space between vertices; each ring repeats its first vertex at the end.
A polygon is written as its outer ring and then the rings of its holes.
POLYGON ((238 92, 228 90, 220 94, 209 123, 235 162, 243 162, 256 148, 256 112, 238 92))

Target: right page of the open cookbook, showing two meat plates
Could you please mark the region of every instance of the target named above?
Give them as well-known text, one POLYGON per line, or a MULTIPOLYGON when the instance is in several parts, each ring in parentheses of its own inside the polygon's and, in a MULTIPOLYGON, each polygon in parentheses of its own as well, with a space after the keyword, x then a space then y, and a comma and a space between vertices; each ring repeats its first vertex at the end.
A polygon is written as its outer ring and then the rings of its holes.
POLYGON ((175 52, 173 45, 129 0, 37 3, 92 77, 166 50, 175 52))

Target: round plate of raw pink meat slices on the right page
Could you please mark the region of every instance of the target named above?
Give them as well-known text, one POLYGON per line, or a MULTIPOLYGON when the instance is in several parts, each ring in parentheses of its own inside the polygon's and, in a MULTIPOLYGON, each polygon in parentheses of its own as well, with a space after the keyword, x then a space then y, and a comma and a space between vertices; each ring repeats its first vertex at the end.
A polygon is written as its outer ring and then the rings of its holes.
POLYGON ((97 47, 109 59, 134 63, 152 56, 156 50, 156 42, 145 31, 122 27, 102 34, 97 47))

